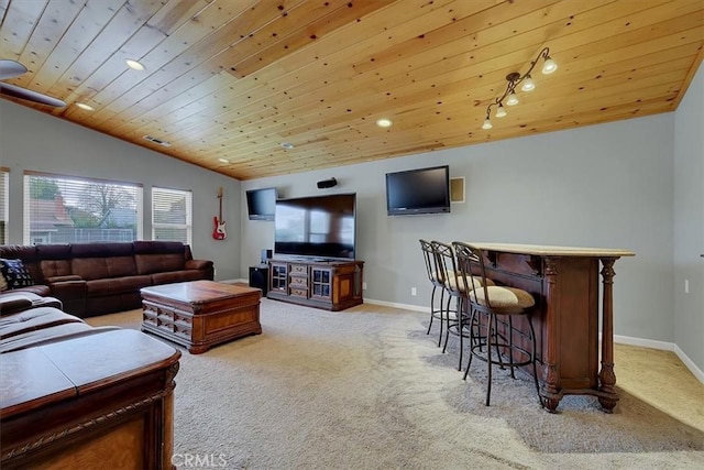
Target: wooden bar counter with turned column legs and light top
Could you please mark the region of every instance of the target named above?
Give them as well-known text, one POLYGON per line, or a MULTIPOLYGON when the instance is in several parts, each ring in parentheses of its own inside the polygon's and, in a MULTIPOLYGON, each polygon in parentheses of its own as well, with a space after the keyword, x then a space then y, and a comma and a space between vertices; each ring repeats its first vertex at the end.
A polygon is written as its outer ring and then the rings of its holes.
POLYGON ((536 297, 532 320, 540 395, 546 408, 554 412, 563 395, 586 394, 597 396, 603 409, 610 413, 618 402, 614 387, 614 263, 635 253, 601 248, 469 243, 484 252, 488 277, 497 284, 524 288, 536 297))

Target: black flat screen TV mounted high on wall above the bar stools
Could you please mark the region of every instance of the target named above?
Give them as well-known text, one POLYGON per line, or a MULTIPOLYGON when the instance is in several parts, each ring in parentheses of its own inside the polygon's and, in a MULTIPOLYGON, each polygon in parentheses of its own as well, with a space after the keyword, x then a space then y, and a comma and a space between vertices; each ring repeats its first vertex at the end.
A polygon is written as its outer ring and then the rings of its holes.
POLYGON ((386 211, 389 216, 449 212, 449 166, 387 173, 386 211))

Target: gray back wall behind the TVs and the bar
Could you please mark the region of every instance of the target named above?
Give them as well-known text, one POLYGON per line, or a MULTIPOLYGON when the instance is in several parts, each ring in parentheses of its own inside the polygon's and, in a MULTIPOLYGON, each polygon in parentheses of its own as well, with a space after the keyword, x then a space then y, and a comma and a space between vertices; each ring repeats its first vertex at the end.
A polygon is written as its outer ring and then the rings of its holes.
MULTIPOLYGON (((672 342, 673 136, 668 113, 242 182, 242 189, 276 186, 285 197, 356 192, 364 295, 394 304, 428 303, 419 238, 632 250, 635 258, 615 265, 615 331, 672 342), (388 217, 385 173, 439 164, 465 177, 466 201, 449 215, 388 217), (331 176, 336 188, 316 187, 331 176)), ((242 221, 244 264, 273 247, 273 230, 274 222, 242 221)))

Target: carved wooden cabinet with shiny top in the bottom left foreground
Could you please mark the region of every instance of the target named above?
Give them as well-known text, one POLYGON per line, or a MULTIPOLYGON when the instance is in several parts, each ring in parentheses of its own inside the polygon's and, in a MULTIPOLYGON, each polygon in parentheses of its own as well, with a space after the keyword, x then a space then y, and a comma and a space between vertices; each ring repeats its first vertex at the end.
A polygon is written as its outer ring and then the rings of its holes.
POLYGON ((170 469, 180 352, 110 330, 0 356, 2 469, 170 469))

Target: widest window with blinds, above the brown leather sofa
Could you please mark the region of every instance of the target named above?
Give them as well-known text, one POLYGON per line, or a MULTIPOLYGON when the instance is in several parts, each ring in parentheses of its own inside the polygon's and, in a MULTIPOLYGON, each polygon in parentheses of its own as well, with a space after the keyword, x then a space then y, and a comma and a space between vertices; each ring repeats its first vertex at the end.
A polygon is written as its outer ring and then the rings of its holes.
POLYGON ((142 239, 142 185, 24 172, 24 243, 142 239))

